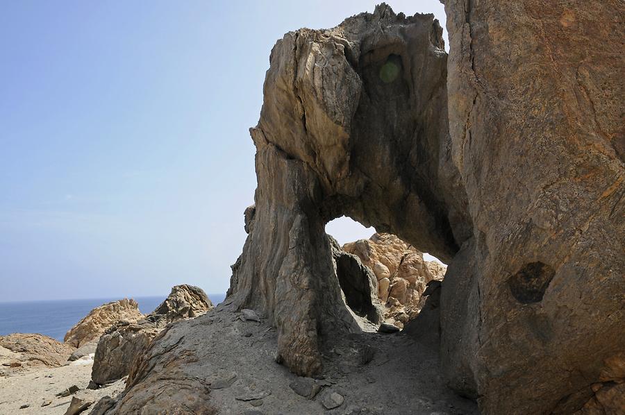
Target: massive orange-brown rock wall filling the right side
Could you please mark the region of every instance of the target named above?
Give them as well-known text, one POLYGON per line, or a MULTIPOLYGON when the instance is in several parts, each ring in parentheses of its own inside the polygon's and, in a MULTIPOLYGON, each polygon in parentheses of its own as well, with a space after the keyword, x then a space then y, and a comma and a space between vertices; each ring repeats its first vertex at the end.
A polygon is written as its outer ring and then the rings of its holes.
POLYGON ((473 232, 442 282, 444 373, 485 414, 574 412, 625 378, 623 3, 445 4, 473 232))

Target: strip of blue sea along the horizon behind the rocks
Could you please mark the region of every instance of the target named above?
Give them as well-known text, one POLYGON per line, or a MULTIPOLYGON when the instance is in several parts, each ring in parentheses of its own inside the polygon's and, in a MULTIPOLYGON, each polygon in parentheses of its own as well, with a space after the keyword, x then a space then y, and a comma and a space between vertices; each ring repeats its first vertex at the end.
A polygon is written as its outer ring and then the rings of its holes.
MULTIPOLYGON (((133 297, 139 311, 147 314, 167 298, 133 297)), ((214 305, 221 303, 225 294, 208 294, 214 305)), ((40 333, 63 341, 67 330, 91 310, 119 298, 91 298, 88 300, 24 301, 0 303, 0 336, 11 333, 40 333)))

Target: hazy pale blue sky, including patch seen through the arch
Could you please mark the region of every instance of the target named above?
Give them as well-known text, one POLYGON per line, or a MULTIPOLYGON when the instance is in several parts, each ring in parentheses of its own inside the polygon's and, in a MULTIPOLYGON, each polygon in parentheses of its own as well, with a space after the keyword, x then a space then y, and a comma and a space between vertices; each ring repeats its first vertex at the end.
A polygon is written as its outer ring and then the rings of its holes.
POLYGON ((0 301, 226 291, 269 51, 375 3, 3 1, 0 301))

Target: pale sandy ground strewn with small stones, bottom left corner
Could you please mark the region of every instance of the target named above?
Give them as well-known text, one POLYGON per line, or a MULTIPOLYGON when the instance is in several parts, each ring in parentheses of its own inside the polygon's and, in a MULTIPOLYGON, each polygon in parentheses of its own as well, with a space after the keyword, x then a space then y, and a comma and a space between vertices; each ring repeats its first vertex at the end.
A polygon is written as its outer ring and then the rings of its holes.
MULTIPOLYGON (((0 414, 65 414, 72 396, 57 397, 56 394, 76 385, 81 388, 75 393, 78 398, 97 401, 101 397, 115 396, 124 389, 125 380, 119 380, 109 387, 92 391, 85 388, 91 379, 93 355, 56 368, 35 368, 0 377, 0 414), (50 405, 42 407, 43 403, 50 405), (19 409, 22 405, 29 405, 19 409)), ((88 411, 84 412, 85 414, 88 411)))

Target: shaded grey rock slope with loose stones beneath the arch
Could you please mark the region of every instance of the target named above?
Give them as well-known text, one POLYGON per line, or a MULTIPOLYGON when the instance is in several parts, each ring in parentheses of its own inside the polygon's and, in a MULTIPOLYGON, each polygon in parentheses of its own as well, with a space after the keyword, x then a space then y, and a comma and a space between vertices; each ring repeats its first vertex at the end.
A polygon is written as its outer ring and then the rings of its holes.
POLYGON ((133 364, 126 390, 92 414, 321 415, 324 403, 339 414, 477 413, 445 387, 435 353, 408 336, 338 338, 324 350, 324 379, 313 380, 276 364, 278 334, 265 319, 240 314, 222 303, 168 325, 133 364))

